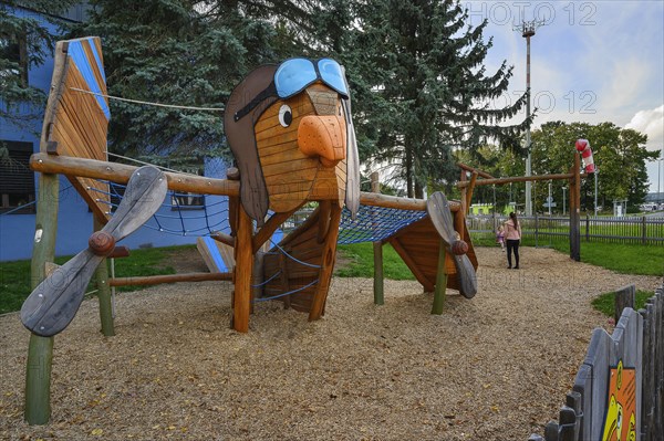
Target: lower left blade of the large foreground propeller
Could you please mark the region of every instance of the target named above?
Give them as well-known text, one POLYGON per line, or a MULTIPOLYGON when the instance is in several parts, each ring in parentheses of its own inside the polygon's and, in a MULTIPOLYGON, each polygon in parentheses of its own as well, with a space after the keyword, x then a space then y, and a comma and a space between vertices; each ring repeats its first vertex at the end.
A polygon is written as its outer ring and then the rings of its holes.
POLYGON ((23 326, 43 337, 62 332, 76 315, 85 287, 103 259, 83 250, 44 279, 21 306, 23 326))

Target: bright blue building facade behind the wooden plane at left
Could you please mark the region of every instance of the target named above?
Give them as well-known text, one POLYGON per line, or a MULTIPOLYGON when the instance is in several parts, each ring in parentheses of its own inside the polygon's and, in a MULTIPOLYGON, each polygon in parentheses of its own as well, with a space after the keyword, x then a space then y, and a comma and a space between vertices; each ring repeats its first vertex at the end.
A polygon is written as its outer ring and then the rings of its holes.
MULTIPOLYGON (((83 4, 72 8, 63 19, 82 21, 85 8, 83 4)), ((46 17, 30 8, 12 8, 10 13, 34 19, 50 31, 56 31, 46 17)), ((27 48, 20 40, 0 34, 3 55, 19 61, 24 57, 27 48)), ((53 59, 50 57, 39 66, 0 74, 23 75, 24 82, 48 93, 52 71, 53 59)), ((19 106, 15 112, 21 116, 29 111, 19 106)), ((25 126, 0 117, 0 261, 32 255, 39 180, 29 168, 29 159, 32 153, 39 151, 41 124, 40 118, 25 126)), ((206 160, 200 165, 200 174, 224 178, 226 165, 218 158, 206 160)), ((227 207, 224 197, 168 195, 156 217, 122 244, 136 249, 195 243, 198 235, 228 229, 227 207)), ((92 213, 65 177, 61 177, 58 219, 56 255, 75 254, 87 246, 93 231, 92 213)))

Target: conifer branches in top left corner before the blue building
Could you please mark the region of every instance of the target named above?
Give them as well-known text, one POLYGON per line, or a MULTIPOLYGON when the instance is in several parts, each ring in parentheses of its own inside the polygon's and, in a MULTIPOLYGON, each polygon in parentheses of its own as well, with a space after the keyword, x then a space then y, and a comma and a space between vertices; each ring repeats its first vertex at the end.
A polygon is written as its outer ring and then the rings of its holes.
POLYGON ((46 94, 30 85, 28 72, 44 63, 66 23, 59 14, 72 0, 33 0, 30 9, 42 20, 17 14, 27 2, 0 2, 0 119, 21 129, 34 130, 42 118, 46 94), (51 27, 48 25, 51 24, 51 27), (56 27, 55 31, 50 28, 56 27))

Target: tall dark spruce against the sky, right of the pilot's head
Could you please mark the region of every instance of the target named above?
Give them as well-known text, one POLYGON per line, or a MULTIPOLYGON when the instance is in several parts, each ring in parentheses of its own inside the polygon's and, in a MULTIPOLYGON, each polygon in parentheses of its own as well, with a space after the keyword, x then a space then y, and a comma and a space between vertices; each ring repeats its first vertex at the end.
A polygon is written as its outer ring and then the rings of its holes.
POLYGON ((515 148, 527 122, 501 126, 525 105, 495 108, 512 67, 484 66, 491 40, 486 21, 473 28, 458 1, 377 0, 359 3, 352 50, 365 87, 355 107, 362 155, 395 164, 408 196, 427 180, 454 180, 453 150, 474 150, 487 139, 515 148))

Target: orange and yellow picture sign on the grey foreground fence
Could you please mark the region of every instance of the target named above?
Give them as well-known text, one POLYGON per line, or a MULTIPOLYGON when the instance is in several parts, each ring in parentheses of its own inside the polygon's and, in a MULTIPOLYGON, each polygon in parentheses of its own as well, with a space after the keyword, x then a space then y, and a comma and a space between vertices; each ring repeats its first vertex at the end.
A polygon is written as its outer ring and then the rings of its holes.
POLYGON ((623 367, 622 360, 612 367, 608 398, 602 441, 635 441, 636 369, 623 367))

